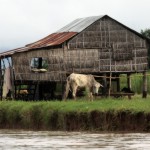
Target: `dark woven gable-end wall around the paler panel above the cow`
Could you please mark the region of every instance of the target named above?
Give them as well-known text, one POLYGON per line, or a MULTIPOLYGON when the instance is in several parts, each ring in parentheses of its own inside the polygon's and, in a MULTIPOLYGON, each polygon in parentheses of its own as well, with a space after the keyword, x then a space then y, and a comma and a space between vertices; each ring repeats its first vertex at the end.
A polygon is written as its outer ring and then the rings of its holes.
MULTIPOLYGON (((93 57, 92 63, 98 65, 91 71, 141 72, 147 69, 146 41, 110 18, 89 26, 70 40, 68 47, 70 53, 78 49, 86 53, 91 49, 95 51, 97 57, 93 57)), ((88 56, 86 60, 89 60, 88 56)), ((83 60, 85 64, 86 60, 83 60)))

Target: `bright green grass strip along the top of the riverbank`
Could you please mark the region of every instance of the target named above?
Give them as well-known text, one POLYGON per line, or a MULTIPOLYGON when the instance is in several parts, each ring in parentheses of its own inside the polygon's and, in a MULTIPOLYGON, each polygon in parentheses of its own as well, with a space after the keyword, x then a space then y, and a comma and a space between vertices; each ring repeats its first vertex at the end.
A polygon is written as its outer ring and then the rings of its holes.
POLYGON ((150 96, 142 99, 141 95, 135 95, 131 100, 126 98, 97 98, 93 102, 80 98, 67 101, 0 101, 0 109, 7 109, 8 111, 29 111, 35 108, 47 110, 58 110, 62 112, 70 111, 108 111, 110 109, 120 110, 128 109, 134 111, 150 112, 150 96))

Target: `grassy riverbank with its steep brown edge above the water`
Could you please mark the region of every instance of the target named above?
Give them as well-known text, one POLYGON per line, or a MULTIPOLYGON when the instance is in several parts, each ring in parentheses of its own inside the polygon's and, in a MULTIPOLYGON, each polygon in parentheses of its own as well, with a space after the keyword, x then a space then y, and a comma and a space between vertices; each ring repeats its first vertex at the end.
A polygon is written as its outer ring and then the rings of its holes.
MULTIPOLYGON (((124 113, 130 116, 131 123, 132 117, 137 118, 141 113, 149 117, 150 96, 142 99, 141 95, 136 95, 131 100, 98 98, 93 102, 84 98, 77 101, 0 101, 0 128, 108 130, 111 126, 111 130, 116 130, 120 128, 118 120, 124 113)), ((146 130, 149 130, 149 123, 146 130)), ((130 123, 127 125, 130 127, 130 123)))

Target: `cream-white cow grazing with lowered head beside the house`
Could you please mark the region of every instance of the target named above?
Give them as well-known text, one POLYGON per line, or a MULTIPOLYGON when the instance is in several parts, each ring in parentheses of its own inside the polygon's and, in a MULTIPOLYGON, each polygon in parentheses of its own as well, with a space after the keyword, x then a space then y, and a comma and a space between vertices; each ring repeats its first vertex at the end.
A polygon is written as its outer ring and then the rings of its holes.
POLYGON ((82 87, 88 90, 88 96, 93 101, 93 94, 98 94, 99 88, 103 86, 95 80, 93 75, 72 73, 67 77, 64 100, 68 97, 69 90, 72 92, 73 98, 76 99, 77 89, 82 87))

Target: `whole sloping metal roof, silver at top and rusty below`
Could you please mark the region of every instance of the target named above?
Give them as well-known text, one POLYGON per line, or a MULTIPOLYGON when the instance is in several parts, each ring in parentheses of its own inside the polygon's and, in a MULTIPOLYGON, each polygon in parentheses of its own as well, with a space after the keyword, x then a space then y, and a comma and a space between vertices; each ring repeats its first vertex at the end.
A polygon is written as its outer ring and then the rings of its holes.
POLYGON ((95 21, 97 21, 98 19, 102 17, 104 16, 93 16, 93 17, 76 19, 73 22, 66 25, 65 27, 58 30, 56 33, 50 34, 49 36, 37 42, 28 44, 25 47, 10 50, 7 52, 2 52, 0 53, 0 56, 8 57, 18 52, 24 52, 24 51, 29 51, 35 48, 42 48, 42 47, 55 46, 55 45, 62 44, 63 42, 69 40, 70 38, 75 36, 77 33, 81 32, 82 30, 84 30, 85 28, 87 28, 92 23, 94 23, 95 21))

